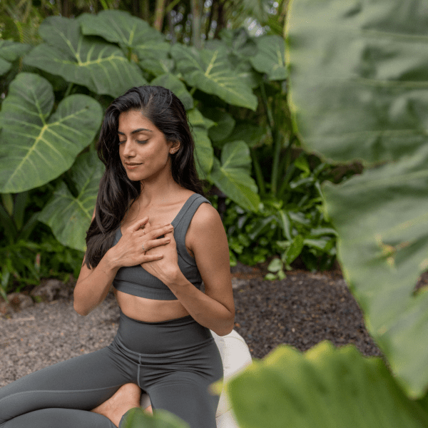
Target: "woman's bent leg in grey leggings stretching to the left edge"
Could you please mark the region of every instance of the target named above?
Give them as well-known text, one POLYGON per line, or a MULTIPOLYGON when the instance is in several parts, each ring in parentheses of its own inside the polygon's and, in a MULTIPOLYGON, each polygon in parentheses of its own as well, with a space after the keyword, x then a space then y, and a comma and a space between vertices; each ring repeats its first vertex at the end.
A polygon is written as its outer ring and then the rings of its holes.
POLYGON ((59 362, 0 389, 0 427, 57 428, 61 420, 65 428, 116 428, 91 409, 133 379, 135 365, 119 362, 109 347, 59 362))

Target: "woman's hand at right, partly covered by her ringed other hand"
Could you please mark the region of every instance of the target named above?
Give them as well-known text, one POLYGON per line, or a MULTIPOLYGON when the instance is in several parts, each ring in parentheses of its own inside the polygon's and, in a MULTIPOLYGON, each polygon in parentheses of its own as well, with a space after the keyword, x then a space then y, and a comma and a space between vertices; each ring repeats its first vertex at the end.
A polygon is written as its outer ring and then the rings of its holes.
MULTIPOLYGON (((170 238, 168 244, 152 249, 153 251, 156 250, 156 253, 161 253, 163 258, 161 258, 161 260, 141 263, 141 266, 143 269, 147 270, 148 273, 151 273, 151 275, 156 276, 164 284, 168 285, 168 281, 180 272, 180 267, 178 267, 178 253, 174 239, 174 231, 165 233, 165 238, 170 238)), ((150 254, 152 250, 148 250, 146 254, 150 254)))

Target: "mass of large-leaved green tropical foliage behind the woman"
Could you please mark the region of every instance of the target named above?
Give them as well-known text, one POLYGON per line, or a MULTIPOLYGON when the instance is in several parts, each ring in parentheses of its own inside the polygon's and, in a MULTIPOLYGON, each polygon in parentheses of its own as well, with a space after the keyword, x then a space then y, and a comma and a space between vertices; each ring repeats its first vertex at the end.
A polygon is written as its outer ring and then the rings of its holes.
MULTIPOLYGON (((330 167, 319 161, 309 165, 304 153, 295 155, 298 138, 286 107, 280 36, 254 38, 245 29, 223 29, 220 39, 198 50, 171 44, 165 34, 126 11, 107 9, 75 19, 49 16, 30 41, 0 45, 5 87, 0 219, 6 246, 21 239, 41 244, 37 230, 42 222, 64 248, 77 250, 76 255, 85 250, 102 170, 93 142, 103 109, 127 88, 151 83, 170 88, 183 101, 193 126, 198 172, 208 190, 215 186, 220 198, 240 207, 248 220, 240 220, 240 228, 257 223, 255 230, 243 231, 253 237, 248 242, 241 239, 243 233, 234 237, 230 230, 232 263, 254 264, 277 254, 282 265, 275 275, 281 277, 300 253, 311 269, 334 260, 335 235, 320 209, 318 190, 322 180, 330 179, 325 173, 330 167), (54 189, 51 201, 30 216, 19 202, 29 199, 19 195, 29 192, 31 199, 31 192, 48 184, 54 189), (26 213, 22 218, 14 204, 26 213), (274 244, 258 244, 264 232, 260 221, 267 225, 277 208, 271 225, 274 244)), ((233 214, 226 218, 234 220, 233 214)), ((3 266, 3 292, 14 279, 38 280, 32 265, 30 259, 19 263, 21 268, 3 266)))

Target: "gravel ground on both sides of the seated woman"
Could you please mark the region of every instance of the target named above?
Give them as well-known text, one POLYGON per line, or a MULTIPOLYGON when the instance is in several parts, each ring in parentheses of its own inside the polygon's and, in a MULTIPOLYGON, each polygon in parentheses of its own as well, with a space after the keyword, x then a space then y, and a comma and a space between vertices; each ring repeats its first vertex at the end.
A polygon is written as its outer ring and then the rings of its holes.
MULTIPOLYGON (((285 343, 307 350, 330 340, 381 355, 365 330, 360 309, 337 272, 289 272, 264 281, 260 270, 233 270, 235 330, 255 358, 285 343)), ((0 387, 56 362, 109 345, 118 326, 113 295, 87 317, 70 299, 41 302, 0 317, 0 387)))

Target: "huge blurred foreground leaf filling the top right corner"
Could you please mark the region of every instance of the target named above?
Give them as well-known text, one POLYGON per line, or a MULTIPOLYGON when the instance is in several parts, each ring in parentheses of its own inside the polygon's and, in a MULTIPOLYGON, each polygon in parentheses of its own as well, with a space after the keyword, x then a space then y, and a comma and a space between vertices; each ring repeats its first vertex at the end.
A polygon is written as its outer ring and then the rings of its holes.
POLYGON ((427 142, 428 26, 420 0, 293 1, 295 123, 333 161, 391 161, 427 142))

